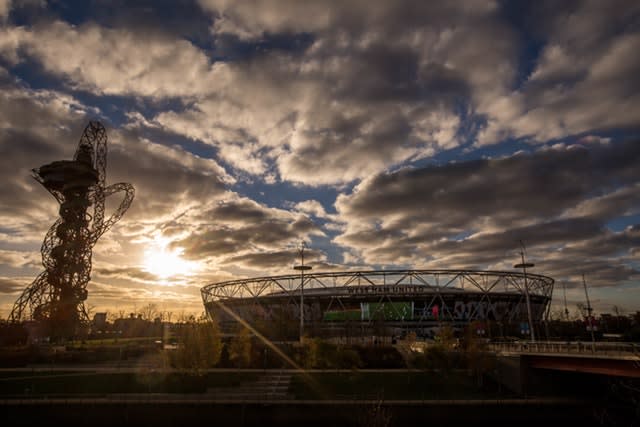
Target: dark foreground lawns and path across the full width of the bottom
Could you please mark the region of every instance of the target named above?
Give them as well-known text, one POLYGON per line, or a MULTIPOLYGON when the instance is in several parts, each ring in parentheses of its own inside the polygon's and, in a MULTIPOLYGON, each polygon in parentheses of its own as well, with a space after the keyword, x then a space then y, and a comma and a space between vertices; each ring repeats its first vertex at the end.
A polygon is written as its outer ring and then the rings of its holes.
POLYGON ((553 375, 556 393, 523 396, 479 385, 464 371, 290 372, 286 391, 274 398, 270 385, 255 392, 268 372, 0 370, 0 419, 6 426, 109 427, 615 426, 638 419, 629 402, 579 393, 577 386, 596 385, 591 380, 561 387, 574 381, 566 375, 553 375))

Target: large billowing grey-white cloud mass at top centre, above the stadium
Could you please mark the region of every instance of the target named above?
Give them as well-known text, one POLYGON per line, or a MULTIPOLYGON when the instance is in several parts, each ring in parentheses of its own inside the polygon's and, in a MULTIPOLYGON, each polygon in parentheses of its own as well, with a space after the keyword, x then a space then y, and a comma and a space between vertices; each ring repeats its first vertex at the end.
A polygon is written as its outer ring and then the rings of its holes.
POLYGON ((257 48, 310 34, 312 43, 257 50, 229 67, 232 88, 156 120, 219 147, 234 168, 284 181, 348 183, 455 148, 456 103, 500 91, 515 69, 511 30, 492 2, 201 5, 222 39, 257 48))

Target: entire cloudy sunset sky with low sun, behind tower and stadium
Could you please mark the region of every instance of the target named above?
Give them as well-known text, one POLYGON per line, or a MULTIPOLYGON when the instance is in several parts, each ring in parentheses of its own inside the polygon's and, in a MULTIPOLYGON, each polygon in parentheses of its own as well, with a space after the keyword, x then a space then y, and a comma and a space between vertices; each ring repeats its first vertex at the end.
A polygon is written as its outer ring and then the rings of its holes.
MULTIPOLYGON (((640 309, 637 1, 0 0, 0 317, 57 203, 30 169, 109 135, 136 188, 88 305, 314 271, 534 271, 640 309)), ((116 196, 113 196, 116 198, 116 196)), ((114 203, 109 205, 112 207, 114 203)))

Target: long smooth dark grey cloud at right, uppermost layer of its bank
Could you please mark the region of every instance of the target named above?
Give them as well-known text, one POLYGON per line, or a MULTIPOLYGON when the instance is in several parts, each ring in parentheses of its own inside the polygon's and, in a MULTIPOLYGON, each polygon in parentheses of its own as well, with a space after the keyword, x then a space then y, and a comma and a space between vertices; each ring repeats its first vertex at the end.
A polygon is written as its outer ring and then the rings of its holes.
POLYGON ((468 227, 482 218, 507 225, 553 217, 591 196, 635 184, 638 164, 640 145, 629 141, 406 169, 366 180, 352 195, 341 195, 337 207, 358 217, 415 214, 439 225, 468 227))

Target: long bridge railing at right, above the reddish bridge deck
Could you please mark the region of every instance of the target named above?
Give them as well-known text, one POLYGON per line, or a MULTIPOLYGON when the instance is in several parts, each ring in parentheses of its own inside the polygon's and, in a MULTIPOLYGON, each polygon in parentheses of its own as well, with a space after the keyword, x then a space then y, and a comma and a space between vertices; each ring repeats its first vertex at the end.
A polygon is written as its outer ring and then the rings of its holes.
POLYGON ((630 342, 591 341, 515 341, 492 342, 488 348, 495 352, 536 353, 536 354, 576 354, 602 356, 640 357, 640 344, 630 342))

